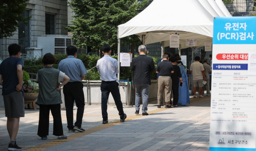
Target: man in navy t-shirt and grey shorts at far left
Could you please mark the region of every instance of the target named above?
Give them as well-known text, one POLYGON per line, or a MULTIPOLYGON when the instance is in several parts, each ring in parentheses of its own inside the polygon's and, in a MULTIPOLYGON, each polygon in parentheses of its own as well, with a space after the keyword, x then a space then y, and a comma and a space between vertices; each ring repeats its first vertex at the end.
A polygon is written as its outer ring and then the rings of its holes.
POLYGON ((25 115, 22 89, 24 60, 20 58, 20 49, 18 44, 10 44, 8 47, 10 57, 3 60, 0 65, 0 85, 3 86, 2 95, 7 117, 7 130, 10 136, 8 151, 21 150, 21 147, 16 144, 19 117, 25 115))

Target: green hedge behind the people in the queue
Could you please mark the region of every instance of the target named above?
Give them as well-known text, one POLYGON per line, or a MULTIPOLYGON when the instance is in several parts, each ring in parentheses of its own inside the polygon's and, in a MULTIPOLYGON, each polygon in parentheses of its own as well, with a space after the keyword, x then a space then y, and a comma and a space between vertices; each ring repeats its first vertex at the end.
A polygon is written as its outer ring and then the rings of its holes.
MULTIPOLYGON (((55 54, 54 55, 56 58, 56 63, 53 65, 54 68, 58 68, 58 64, 62 59, 67 58, 66 54, 55 54)), ((136 55, 137 56, 137 55, 136 55)), ((136 57, 135 56, 135 57, 136 57)), ((78 54, 77 59, 81 59, 84 66, 86 67, 88 73, 85 76, 85 80, 100 80, 100 74, 97 71, 97 68, 95 67, 97 64, 98 59, 100 59, 99 56, 95 55, 84 55, 84 54, 78 54)), ((118 59, 117 56, 112 56, 112 58, 118 59)), ((155 62, 155 68, 156 68, 156 62, 158 59, 157 57, 152 57, 154 62, 155 62)), ((41 69, 43 66, 42 64, 42 58, 39 58, 38 60, 32 59, 32 60, 24 60, 24 70, 26 72, 30 73, 37 73, 39 69, 41 69)), ((126 80, 126 79, 131 79, 131 69, 130 67, 120 67, 120 79, 121 80, 126 80)), ((151 73, 151 79, 156 79, 156 73, 152 72, 151 73)))

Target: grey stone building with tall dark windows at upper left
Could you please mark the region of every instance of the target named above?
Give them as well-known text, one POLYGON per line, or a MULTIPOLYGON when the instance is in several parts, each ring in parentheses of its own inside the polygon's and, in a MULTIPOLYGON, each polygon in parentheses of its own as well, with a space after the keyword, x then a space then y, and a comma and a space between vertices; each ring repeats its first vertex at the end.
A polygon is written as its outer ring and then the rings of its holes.
POLYGON ((13 36, 0 39, 1 58, 9 57, 9 44, 18 43, 22 53, 26 54, 27 47, 37 47, 37 37, 47 34, 67 35, 63 26, 67 26, 66 0, 29 0, 23 17, 31 17, 27 25, 19 23, 13 36))

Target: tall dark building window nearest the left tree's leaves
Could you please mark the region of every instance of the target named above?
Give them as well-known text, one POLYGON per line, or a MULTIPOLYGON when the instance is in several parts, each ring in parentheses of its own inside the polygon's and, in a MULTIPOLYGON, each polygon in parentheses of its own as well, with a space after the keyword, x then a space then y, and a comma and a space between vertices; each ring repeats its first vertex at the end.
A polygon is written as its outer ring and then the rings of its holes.
MULTIPOLYGON (((29 10, 25 10, 22 17, 29 17, 29 10)), ((25 48, 30 47, 30 21, 18 22, 18 44, 22 53, 27 53, 25 48)))

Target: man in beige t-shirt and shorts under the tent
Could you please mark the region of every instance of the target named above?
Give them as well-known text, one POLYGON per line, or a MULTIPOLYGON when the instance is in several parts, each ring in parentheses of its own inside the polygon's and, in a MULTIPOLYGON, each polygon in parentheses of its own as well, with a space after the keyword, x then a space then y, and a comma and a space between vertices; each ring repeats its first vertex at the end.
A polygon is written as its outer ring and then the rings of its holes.
POLYGON ((204 68, 203 65, 199 62, 200 57, 196 56, 195 57, 195 62, 193 62, 190 66, 190 72, 192 72, 193 76, 193 93, 195 98, 195 92, 196 92, 196 87, 199 85, 199 95, 200 98, 203 98, 202 96, 202 87, 203 87, 203 80, 206 81, 205 74, 204 74, 204 68))

